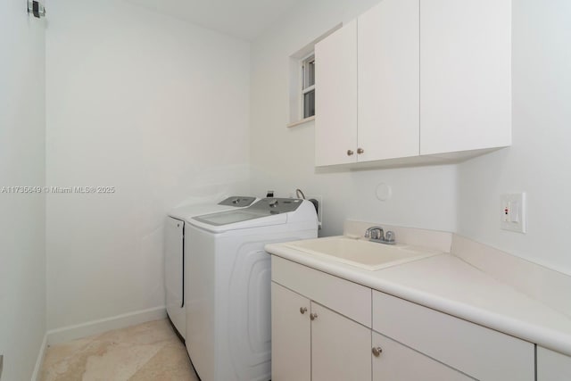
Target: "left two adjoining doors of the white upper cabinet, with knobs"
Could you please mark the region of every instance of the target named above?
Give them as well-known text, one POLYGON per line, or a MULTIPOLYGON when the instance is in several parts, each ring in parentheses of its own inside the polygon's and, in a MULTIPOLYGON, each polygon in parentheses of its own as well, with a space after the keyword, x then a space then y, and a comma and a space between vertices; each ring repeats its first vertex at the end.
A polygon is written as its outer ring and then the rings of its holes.
POLYGON ((384 0, 315 46, 317 166, 418 156, 418 0, 384 0))

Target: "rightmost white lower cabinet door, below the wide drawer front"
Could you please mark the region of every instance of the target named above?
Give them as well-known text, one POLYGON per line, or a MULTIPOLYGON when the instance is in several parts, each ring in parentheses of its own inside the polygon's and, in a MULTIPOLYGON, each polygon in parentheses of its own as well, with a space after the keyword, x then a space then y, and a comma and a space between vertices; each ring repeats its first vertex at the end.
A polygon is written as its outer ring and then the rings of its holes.
POLYGON ((373 332, 373 347, 382 350, 378 356, 373 355, 373 381, 473 379, 377 332, 373 332))

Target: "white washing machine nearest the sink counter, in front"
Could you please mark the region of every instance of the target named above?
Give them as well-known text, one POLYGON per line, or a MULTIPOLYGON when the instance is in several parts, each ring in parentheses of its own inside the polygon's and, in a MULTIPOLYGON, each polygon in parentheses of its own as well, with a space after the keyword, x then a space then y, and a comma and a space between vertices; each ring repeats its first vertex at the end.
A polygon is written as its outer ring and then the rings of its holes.
POLYGON ((269 253, 264 245, 315 238, 314 205, 264 198, 194 217, 186 243, 186 349, 203 381, 271 377, 269 253))

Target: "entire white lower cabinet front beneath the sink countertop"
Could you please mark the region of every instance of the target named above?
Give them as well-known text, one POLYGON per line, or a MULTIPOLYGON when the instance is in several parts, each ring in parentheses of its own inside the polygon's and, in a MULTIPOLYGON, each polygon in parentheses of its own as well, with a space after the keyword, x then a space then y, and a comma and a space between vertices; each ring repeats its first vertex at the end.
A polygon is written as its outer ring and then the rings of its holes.
MULTIPOLYGON (((535 379, 534 344, 276 256, 271 294, 273 381, 535 379)), ((540 356, 538 381, 568 359, 540 356)))

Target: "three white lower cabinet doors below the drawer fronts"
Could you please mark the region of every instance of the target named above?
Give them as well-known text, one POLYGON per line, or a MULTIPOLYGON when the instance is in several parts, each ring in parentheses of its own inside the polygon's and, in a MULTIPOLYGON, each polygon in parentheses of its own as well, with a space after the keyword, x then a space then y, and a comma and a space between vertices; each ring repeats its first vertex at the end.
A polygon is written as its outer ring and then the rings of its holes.
POLYGON ((472 379, 275 282, 271 296, 274 381, 472 379))

